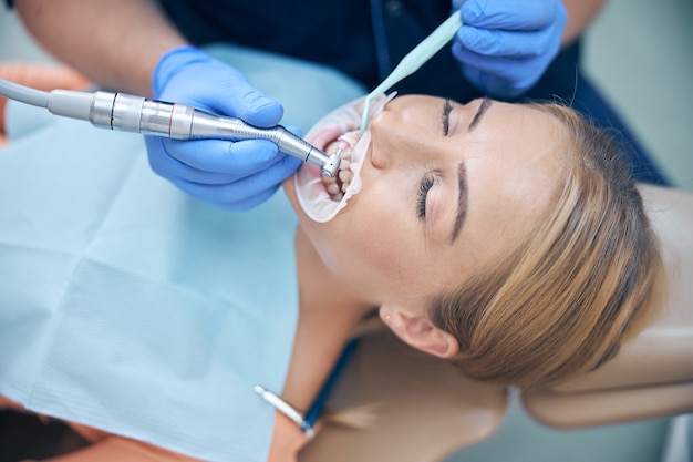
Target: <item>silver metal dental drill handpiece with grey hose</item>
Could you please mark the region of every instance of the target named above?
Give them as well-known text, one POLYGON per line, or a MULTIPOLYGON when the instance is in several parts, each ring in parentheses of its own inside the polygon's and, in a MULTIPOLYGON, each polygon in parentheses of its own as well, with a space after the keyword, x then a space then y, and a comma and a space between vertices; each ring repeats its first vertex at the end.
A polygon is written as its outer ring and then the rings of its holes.
POLYGON ((55 115, 87 121, 101 129, 174 140, 268 140, 276 143, 279 151, 319 166, 322 176, 333 177, 339 168, 338 155, 323 153, 281 125, 257 127, 240 119, 209 114, 184 104, 102 91, 42 92, 3 79, 0 79, 0 95, 45 107, 55 115))

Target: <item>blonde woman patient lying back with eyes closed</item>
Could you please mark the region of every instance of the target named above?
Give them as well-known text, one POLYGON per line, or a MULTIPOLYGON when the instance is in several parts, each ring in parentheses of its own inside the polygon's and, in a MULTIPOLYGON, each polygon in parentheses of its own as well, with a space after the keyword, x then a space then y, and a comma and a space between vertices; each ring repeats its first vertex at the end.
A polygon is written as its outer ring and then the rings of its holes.
MULTIPOLYGON (((363 136, 359 115, 356 102, 308 136, 352 154, 355 172, 323 185, 306 164, 283 184, 299 219, 300 319, 282 392, 296 408, 310 405, 375 310, 404 342, 465 374, 529 388, 608 361, 661 305, 656 239, 622 154, 575 111, 400 96, 363 136), (309 216, 354 175, 360 191, 343 209, 324 223, 309 216)), ((108 441, 106 452, 121 444, 108 441)), ((278 415, 270 459, 292 460, 304 442, 278 415)))

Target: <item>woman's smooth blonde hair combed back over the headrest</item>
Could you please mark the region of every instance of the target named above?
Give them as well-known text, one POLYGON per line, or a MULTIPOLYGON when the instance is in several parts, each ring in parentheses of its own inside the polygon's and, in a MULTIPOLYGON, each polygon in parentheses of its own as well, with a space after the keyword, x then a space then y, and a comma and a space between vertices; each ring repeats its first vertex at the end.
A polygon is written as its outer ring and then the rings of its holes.
POLYGON ((546 220, 511 255, 433 300, 453 361, 485 381, 529 388, 613 358, 661 306, 664 270, 642 199, 604 132, 571 109, 532 105, 563 126, 565 182, 546 220))

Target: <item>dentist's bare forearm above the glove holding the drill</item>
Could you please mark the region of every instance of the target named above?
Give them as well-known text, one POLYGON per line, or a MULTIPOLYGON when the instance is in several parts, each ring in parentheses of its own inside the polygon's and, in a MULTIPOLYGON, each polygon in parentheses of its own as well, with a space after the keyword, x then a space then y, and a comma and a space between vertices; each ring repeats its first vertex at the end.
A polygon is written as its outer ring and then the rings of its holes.
POLYGON ((186 40, 152 0, 14 0, 49 53, 107 89, 152 96, 162 55, 186 40))

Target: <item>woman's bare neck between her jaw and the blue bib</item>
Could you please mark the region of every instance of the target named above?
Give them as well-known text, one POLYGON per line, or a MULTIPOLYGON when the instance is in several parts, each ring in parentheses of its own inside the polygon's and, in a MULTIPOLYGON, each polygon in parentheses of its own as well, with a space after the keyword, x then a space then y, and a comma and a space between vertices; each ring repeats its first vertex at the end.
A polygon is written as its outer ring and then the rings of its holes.
POLYGON ((307 409, 359 321, 375 307, 342 284, 299 228, 296 237, 300 315, 283 397, 307 409))

